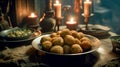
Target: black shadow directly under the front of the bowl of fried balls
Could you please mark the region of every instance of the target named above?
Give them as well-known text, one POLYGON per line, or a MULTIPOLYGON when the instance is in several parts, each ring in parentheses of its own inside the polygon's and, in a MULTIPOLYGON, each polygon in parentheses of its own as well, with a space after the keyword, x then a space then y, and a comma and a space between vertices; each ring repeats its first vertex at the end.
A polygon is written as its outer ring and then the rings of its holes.
POLYGON ((40 56, 38 54, 29 57, 30 61, 38 61, 45 64, 48 67, 93 67, 93 65, 98 61, 99 54, 97 52, 89 53, 86 55, 79 56, 51 56, 44 55, 40 56), (36 60, 35 60, 36 59, 36 60))

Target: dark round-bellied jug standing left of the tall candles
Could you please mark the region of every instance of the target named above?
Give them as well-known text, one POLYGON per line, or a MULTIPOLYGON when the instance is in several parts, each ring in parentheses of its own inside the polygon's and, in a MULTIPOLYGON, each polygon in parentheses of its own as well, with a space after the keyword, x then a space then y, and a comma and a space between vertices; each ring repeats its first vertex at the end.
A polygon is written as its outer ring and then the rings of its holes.
POLYGON ((55 25, 54 11, 46 11, 44 18, 40 22, 41 32, 52 32, 54 31, 55 25))

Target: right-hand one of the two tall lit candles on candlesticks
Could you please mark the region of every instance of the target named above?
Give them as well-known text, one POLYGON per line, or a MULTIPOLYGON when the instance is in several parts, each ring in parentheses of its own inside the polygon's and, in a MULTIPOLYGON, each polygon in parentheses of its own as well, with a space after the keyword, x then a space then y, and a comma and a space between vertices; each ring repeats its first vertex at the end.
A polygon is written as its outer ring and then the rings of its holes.
POLYGON ((84 1, 84 16, 89 17, 90 16, 90 7, 92 2, 90 0, 84 1))

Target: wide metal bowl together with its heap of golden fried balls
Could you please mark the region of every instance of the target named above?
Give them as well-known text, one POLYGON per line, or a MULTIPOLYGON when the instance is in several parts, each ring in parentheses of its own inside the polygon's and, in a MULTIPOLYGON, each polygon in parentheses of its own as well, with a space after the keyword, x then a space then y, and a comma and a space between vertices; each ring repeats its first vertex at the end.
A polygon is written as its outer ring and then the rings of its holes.
POLYGON ((100 40, 82 32, 63 29, 41 35, 32 41, 32 46, 50 55, 84 55, 96 51, 100 46, 100 40))

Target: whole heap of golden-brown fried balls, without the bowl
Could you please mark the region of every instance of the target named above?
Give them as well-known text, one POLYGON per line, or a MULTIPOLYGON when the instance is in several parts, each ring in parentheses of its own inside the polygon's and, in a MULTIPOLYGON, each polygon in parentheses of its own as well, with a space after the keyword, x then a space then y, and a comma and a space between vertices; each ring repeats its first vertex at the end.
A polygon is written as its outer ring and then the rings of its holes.
POLYGON ((63 29, 40 40, 42 50, 57 54, 76 54, 91 50, 92 42, 82 32, 63 29))

